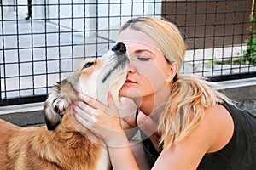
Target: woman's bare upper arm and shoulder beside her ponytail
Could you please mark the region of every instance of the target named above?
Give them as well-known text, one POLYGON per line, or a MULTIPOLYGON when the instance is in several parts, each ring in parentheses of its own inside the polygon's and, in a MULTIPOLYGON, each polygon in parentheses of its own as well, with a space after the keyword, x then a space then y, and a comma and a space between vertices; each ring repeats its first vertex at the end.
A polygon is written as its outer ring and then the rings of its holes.
POLYGON ((220 129, 224 127, 225 118, 221 117, 219 112, 224 112, 224 110, 218 105, 212 105, 205 109, 199 126, 195 127, 195 130, 181 141, 177 141, 170 148, 164 149, 156 162, 155 169, 170 166, 170 164, 172 164, 173 169, 196 168, 207 152, 221 149, 223 146, 218 144, 218 139, 222 138, 220 129))

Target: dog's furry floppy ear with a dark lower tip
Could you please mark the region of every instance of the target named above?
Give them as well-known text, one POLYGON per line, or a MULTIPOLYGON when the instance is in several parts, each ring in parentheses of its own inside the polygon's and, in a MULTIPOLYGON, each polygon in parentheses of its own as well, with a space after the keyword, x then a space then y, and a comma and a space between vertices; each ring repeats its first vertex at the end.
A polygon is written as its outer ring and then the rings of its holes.
POLYGON ((62 120, 61 101, 61 82, 55 84, 55 89, 49 94, 44 103, 44 120, 48 130, 54 130, 62 120))

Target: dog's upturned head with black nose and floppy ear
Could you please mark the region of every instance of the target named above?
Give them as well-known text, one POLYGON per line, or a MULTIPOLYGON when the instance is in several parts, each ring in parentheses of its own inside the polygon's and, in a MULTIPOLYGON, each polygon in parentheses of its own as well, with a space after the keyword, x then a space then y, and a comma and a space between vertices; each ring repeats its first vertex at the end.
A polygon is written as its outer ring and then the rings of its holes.
POLYGON ((89 95, 107 104, 110 92, 118 103, 119 90, 125 82, 128 65, 125 44, 121 42, 98 59, 85 59, 70 77, 55 84, 55 89, 45 101, 47 128, 54 130, 61 123, 64 114, 73 112, 73 101, 79 100, 77 93, 89 95))

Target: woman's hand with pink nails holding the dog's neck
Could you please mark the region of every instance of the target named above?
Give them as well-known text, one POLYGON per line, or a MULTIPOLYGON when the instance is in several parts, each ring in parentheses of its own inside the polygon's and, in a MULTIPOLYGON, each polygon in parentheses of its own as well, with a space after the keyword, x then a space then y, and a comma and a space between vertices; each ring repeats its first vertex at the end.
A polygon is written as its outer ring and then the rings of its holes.
POLYGON ((84 127, 103 139, 108 146, 120 145, 122 141, 126 141, 119 109, 110 93, 108 93, 108 105, 103 105, 84 94, 78 95, 84 102, 79 101, 73 105, 74 116, 84 127))

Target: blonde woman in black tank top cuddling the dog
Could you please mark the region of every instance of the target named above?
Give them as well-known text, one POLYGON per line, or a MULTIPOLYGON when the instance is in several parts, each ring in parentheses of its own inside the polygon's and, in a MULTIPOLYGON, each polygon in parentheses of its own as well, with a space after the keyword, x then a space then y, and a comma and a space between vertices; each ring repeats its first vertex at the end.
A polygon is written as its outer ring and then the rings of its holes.
POLYGON ((131 59, 119 92, 127 106, 119 111, 111 94, 108 105, 79 94, 84 102, 74 107, 79 122, 108 145, 113 169, 256 168, 256 117, 211 83, 179 73, 186 49, 176 26, 131 19, 117 42, 131 59), (142 143, 131 144, 136 127, 142 143))

